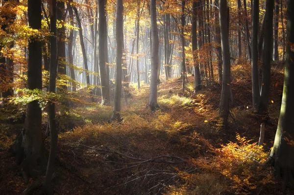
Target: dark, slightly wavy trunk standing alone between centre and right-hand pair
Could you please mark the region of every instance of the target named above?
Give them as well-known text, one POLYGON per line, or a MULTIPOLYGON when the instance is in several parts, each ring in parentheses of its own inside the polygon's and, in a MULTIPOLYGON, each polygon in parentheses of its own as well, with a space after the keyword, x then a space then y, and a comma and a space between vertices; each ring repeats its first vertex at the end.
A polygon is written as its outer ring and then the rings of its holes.
POLYGON ((227 0, 220 0, 220 28, 221 28, 221 50, 223 62, 222 86, 221 86, 221 102, 220 116, 223 125, 227 124, 229 115, 229 97, 230 97, 230 76, 231 76, 231 56, 229 48, 228 33, 228 9, 227 0))

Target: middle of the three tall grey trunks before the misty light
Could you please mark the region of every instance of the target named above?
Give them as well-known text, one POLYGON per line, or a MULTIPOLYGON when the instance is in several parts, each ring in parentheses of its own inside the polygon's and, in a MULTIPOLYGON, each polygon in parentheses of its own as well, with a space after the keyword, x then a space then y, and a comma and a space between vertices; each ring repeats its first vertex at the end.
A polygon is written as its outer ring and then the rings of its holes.
POLYGON ((121 120, 121 94, 122 94, 122 64, 123 64, 123 0, 117 0, 116 11, 116 44, 117 44, 117 58, 116 58, 116 78, 114 91, 114 107, 112 120, 121 120))

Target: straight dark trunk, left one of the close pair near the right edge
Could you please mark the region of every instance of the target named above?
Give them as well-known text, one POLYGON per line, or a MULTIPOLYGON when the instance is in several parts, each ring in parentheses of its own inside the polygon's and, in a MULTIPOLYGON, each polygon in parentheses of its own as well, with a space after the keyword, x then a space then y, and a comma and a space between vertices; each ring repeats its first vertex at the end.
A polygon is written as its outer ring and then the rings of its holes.
POLYGON ((251 41, 251 76, 252 76, 252 102, 253 109, 258 109, 260 95, 258 82, 258 21, 259 21, 259 0, 253 0, 252 7, 252 41, 251 41))

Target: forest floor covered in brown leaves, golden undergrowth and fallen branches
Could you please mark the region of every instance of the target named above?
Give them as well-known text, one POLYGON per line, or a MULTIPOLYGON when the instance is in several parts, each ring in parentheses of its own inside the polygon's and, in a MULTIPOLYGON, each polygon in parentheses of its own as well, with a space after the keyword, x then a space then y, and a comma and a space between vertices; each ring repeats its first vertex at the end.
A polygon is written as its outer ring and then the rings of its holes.
MULTIPOLYGON (((148 86, 130 86, 122 99, 123 121, 109 123, 111 106, 79 105, 59 116, 57 195, 283 195, 264 166, 278 123, 283 73, 271 73, 269 114, 252 113, 249 65, 235 65, 229 125, 218 116, 221 85, 212 82, 193 93, 188 76, 158 85, 159 109, 147 108, 148 86), (257 146, 260 124, 266 123, 265 145, 257 146)), ((43 131, 46 129, 44 118, 43 131)), ((0 128, 0 194, 17 195, 31 185, 11 169, 8 152, 23 124, 0 128)), ((50 139, 45 140, 49 151, 50 139)), ((37 194, 37 190, 32 194, 37 194)))

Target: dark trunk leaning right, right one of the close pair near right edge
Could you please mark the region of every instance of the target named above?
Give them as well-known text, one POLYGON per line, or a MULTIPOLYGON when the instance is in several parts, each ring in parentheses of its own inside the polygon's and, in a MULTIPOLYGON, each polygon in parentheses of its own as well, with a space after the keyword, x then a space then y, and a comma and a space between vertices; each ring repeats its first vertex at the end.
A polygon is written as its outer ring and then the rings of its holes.
POLYGON ((258 112, 262 114, 263 112, 268 111, 269 106, 269 96, 270 96, 270 62, 272 56, 272 35, 273 35, 273 8, 274 1, 267 0, 266 4, 266 15, 265 15, 265 43, 263 50, 263 72, 262 72, 262 86, 260 92, 260 104, 258 112))

